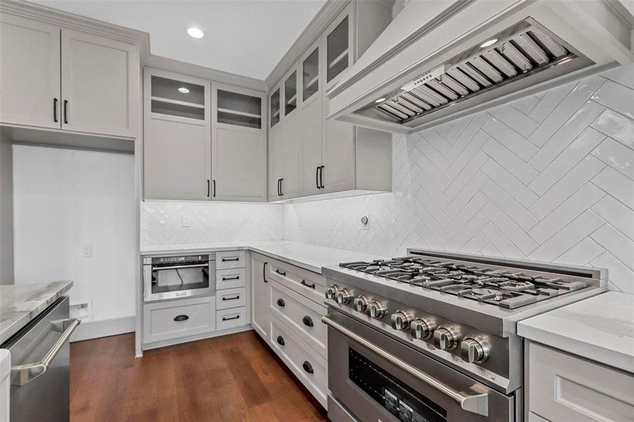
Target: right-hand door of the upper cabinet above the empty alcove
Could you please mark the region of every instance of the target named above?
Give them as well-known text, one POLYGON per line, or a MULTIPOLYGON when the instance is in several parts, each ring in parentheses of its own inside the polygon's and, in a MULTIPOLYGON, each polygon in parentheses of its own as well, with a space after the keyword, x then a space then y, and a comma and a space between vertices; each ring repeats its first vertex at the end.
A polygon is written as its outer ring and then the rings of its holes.
POLYGON ((137 136, 137 47, 62 29, 62 129, 137 136))

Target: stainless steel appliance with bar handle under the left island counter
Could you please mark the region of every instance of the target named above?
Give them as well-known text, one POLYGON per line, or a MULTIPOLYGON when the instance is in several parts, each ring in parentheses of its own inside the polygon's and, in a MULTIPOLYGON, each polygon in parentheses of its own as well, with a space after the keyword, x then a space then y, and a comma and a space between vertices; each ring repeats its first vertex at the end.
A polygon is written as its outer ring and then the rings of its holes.
POLYGON ((60 298, 1 346, 11 353, 11 421, 70 419, 68 342, 80 320, 68 316, 60 298))

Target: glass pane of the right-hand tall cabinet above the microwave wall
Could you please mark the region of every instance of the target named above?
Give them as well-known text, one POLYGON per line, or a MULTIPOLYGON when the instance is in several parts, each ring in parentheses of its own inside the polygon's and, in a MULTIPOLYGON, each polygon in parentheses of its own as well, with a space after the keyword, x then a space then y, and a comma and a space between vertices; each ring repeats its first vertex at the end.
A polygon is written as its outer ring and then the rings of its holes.
POLYGON ((218 89, 218 123, 236 126, 262 127, 262 100, 260 97, 218 89))

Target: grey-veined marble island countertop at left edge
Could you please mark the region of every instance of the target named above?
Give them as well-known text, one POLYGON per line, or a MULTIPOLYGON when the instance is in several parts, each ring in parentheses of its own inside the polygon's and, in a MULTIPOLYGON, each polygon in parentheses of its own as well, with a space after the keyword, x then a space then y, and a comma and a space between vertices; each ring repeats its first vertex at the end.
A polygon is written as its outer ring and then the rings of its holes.
POLYGON ((72 281, 0 286, 0 344, 72 287, 72 281))

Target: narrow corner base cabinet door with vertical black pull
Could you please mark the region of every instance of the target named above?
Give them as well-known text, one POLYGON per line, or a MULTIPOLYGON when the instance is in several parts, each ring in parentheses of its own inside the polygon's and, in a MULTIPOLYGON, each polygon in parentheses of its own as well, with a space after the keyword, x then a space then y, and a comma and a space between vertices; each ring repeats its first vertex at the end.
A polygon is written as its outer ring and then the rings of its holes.
POLYGON ((251 326, 269 340, 269 306, 271 302, 271 288, 267 280, 267 257, 251 252, 251 326))

